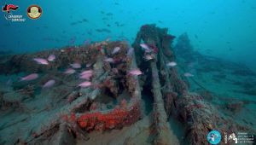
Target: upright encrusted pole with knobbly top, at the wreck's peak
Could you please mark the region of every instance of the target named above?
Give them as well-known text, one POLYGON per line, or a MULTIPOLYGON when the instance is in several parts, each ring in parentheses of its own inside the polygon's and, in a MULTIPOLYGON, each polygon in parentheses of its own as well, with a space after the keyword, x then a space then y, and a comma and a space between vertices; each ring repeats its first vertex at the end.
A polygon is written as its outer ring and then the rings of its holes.
MULTIPOLYGON (((172 59, 172 53, 169 51, 169 44, 166 42, 172 42, 172 36, 167 35, 166 29, 159 29, 154 25, 144 25, 141 27, 141 31, 137 33, 137 38, 133 47, 135 48, 136 53, 136 60, 139 64, 138 66, 141 67, 142 70, 149 68, 151 72, 151 85, 152 85, 152 93, 154 96, 154 128, 156 131, 156 138, 154 139, 154 144, 179 144, 177 141, 177 136, 175 136, 170 128, 170 125, 167 124, 167 114, 165 111, 165 103, 164 97, 162 95, 161 89, 163 89, 163 85, 160 84, 160 76, 159 76, 159 68, 157 64, 160 64, 160 55, 163 55, 162 50, 167 53, 172 59), (160 38, 166 38, 165 40, 161 40, 160 38), (141 41, 144 41, 145 44, 154 49, 154 53, 150 55, 154 55, 154 60, 145 61, 143 60, 144 52, 140 48, 141 41), (162 43, 160 43, 162 42, 162 43), (160 50, 160 51, 159 51, 160 50)), ((162 64, 161 64, 162 65, 162 64)), ((165 64, 161 66, 162 69, 165 69, 165 64)), ((168 76, 166 76, 168 77, 168 76)), ((170 79, 167 78, 167 84, 165 87, 172 88, 170 79)))

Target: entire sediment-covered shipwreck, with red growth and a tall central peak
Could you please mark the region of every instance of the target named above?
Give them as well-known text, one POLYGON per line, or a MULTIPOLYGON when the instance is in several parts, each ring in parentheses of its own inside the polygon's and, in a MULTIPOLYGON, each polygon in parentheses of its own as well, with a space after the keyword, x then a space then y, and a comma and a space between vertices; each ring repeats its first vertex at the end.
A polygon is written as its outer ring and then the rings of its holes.
MULTIPOLYGON (((207 100, 214 94, 190 91, 190 82, 177 67, 166 67, 177 61, 181 50, 174 50, 175 37, 167 32, 144 25, 131 45, 106 40, 1 55, 0 75, 14 79, 1 84, 0 144, 199 145, 208 144, 206 136, 212 130, 255 134, 253 123, 237 124, 219 113, 207 100), (142 47, 142 43, 147 45, 142 47), (33 61, 49 55, 56 58, 47 65, 33 61), (81 66, 68 69, 73 62, 81 66), (78 73, 90 74, 83 80, 78 73), (29 81, 17 77, 27 74, 38 76, 29 81), (49 80, 54 80, 53 87, 42 87, 49 80), (177 135, 169 119, 182 125, 181 133, 177 135)), ((183 53, 185 57, 192 57, 193 52, 185 52, 189 54, 183 53)), ((236 111, 240 103, 225 107, 236 111)))

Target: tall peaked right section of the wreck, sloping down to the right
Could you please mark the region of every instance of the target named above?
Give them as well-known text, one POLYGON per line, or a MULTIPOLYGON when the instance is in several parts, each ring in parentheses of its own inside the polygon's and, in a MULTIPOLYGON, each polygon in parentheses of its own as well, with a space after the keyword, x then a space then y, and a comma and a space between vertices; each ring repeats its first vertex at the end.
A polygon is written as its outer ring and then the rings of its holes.
POLYGON ((184 139, 189 144, 207 144, 206 136, 212 130, 228 133, 245 131, 245 126, 235 123, 227 125, 229 118, 220 116, 218 110, 206 102, 203 96, 189 92, 187 84, 179 77, 176 67, 166 67, 168 62, 176 61, 172 50, 173 38, 175 37, 167 34, 167 29, 144 25, 137 32, 137 38, 132 45, 135 48, 138 67, 145 73, 149 68, 151 71, 149 74, 152 75, 154 124, 157 131, 155 144, 177 144, 177 137, 173 136, 172 129, 166 131, 167 118, 170 116, 183 123, 186 128, 184 139), (149 61, 143 59, 148 53, 143 51, 141 43, 157 50, 150 54, 154 55, 154 59, 149 61), (166 135, 169 138, 166 138, 166 135))

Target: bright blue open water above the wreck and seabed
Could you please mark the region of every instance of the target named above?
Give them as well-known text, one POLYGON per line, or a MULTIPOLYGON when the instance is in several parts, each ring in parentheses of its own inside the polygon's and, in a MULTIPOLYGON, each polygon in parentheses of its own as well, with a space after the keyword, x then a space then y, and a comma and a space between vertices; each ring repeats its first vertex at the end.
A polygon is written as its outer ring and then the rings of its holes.
POLYGON ((0 4, 5 3, 19 5, 20 9, 12 13, 25 17, 26 8, 38 4, 43 15, 38 20, 26 17, 26 22, 17 23, 0 14, 0 50, 33 52, 70 45, 72 39, 76 45, 87 39, 126 38, 133 42, 140 26, 155 23, 168 27, 175 36, 188 32, 195 49, 203 54, 256 70, 255 0, 2 0, 0 4), (88 22, 71 25, 83 19, 88 22), (115 22, 124 26, 116 26, 115 22), (96 32, 102 28, 111 32, 96 32))

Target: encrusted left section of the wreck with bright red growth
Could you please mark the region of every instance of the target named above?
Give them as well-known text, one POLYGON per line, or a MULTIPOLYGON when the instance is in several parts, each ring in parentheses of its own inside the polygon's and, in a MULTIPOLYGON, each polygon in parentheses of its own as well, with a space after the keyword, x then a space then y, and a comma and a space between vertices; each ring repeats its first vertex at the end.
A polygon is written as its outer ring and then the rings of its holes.
MULTIPOLYGON (((32 135, 28 132, 29 135, 27 136, 19 136, 17 142, 31 144, 69 142, 74 144, 78 138, 86 140, 90 131, 121 129, 141 119, 140 85, 136 76, 129 75, 129 71, 137 68, 137 63, 131 55, 126 55, 129 49, 129 45, 122 41, 103 41, 81 47, 54 49, 30 55, 12 55, 2 61, 0 64, 1 70, 3 70, 1 71, 2 74, 39 73, 39 78, 32 82, 35 88, 38 88, 40 82, 45 78, 54 78, 56 84, 64 84, 68 88, 63 96, 51 96, 49 98, 51 100, 55 98, 51 101, 51 104, 56 104, 56 107, 51 107, 51 110, 55 111, 49 113, 44 120, 40 120, 37 128, 31 129, 32 135), (115 47, 120 49, 118 53, 113 55, 112 52, 115 47), (38 65, 33 61, 33 58, 47 58, 49 55, 57 56, 56 60, 49 65, 38 65), (113 61, 105 61, 107 58, 112 58, 113 61), (79 62, 85 70, 93 70, 94 75, 91 79, 93 86, 79 88, 77 84, 79 80, 76 77, 60 73, 73 62, 79 62), (85 67, 88 64, 90 66, 85 67), (119 99, 122 92, 128 93, 128 100, 119 99), (106 94, 114 100, 119 99, 118 104, 113 108, 108 108, 107 104, 101 102, 101 97, 106 94)), ((19 83, 17 88, 26 91, 22 88, 26 84, 19 83)), ((19 102, 23 103, 22 100, 19 102)), ((48 108, 43 108, 38 111, 38 114, 47 112, 48 108)), ((15 124, 22 123, 22 120, 15 124)), ((8 127, 2 126, 1 132, 7 130, 8 127)), ((7 138, 4 142, 12 141, 7 138)))

